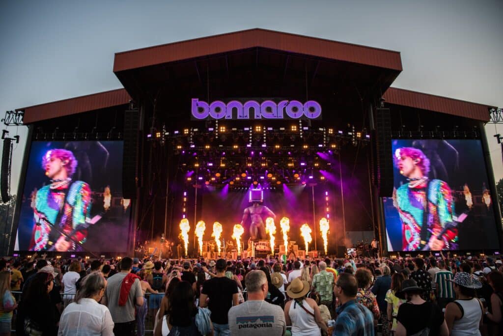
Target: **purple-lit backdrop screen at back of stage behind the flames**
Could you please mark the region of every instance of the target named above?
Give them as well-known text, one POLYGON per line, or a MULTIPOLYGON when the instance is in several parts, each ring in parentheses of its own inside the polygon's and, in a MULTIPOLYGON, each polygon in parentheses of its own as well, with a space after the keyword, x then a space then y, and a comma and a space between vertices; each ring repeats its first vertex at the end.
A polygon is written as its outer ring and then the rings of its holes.
MULTIPOLYGON (((269 234, 265 231, 266 219, 272 217, 275 219, 276 240, 283 241, 280 220, 287 217, 290 225, 289 241, 296 241, 296 244, 302 246, 300 248, 304 248, 305 244, 300 236, 300 227, 306 223, 311 230, 314 230, 313 188, 307 185, 281 185, 276 189, 268 189, 267 187, 257 191, 253 191, 253 189, 253 187, 229 189, 228 186, 225 186, 203 190, 201 219, 206 223, 204 240, 214 239, 211 237, 211 233, 215 221, 222 224, 222 238, 225 241, 234 240, 231 237, 234 224, 242 224, 243 241, 247 241, 253 234, 257 239, 269 240, 269 234)), ((322 186, 314 188, 317 222, 326 216, 323 211, 325 189, 327 188, 322 186)), ((316 223, 316 227, 319 227, 318 223, 316 223)), ((317 235, 319 236, 319 228, 317 235)), ((314 239, 314 232, 311 232, 311 236, 314 239)), ((311 245, 309 249, 314 249, 314 240, 311 245)))

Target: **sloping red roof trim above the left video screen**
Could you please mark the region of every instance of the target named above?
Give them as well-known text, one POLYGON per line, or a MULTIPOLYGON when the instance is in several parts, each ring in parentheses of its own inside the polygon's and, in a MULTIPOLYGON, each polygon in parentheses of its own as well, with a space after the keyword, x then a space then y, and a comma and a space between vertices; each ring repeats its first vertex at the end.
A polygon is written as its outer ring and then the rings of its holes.
POLYGON ((131 97, 125 89, 116 89, 92 95, 64 99, 56 102, 17 109, 24 110, 24 124, 63 117, 70 114, 94 111, 107 107, 128 104, 131 97))

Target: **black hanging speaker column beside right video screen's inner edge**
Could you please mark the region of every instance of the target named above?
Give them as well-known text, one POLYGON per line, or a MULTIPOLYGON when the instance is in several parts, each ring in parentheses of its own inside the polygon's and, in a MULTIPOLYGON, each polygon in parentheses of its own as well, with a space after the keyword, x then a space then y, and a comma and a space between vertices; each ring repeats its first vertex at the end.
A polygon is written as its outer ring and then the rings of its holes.
POLYGON ((391 197, 393 194, 391 116, 389 109, 378 108, 375 111, 375 182, 379 197, 391 197))

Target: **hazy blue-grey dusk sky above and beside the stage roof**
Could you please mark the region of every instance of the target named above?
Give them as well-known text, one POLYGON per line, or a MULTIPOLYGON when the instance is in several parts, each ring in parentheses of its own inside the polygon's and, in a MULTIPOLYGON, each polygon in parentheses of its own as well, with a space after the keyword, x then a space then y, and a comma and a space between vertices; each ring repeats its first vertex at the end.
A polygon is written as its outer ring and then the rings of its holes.
MULTIPOLYGON (((502 17, 496 0, 3 1, 0 114, 121 88, 116 52, 250 28, 400 51, 393 87, 503 107, 502 17)), ((8 130, 15 194, 27 132, 8 130)), ((486 131, 498 181, 503 127, 486 131)))

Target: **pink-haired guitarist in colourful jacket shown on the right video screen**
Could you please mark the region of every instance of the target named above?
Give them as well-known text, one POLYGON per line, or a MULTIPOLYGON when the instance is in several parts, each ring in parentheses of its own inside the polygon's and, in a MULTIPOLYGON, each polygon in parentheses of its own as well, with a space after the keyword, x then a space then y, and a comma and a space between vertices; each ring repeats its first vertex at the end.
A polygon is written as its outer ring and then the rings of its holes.
POLYGON ((402 226, 402 249, 457 249, 458 230, 450 228, 454 221, 454 203, 449 185, 441 180, 429 180, 430 160, 420 150, 402 147, 395 151, 394 161, 408 183, 395 191, 395 206, 402 226), (427 200, 428 198, 428 200, 427 200))

